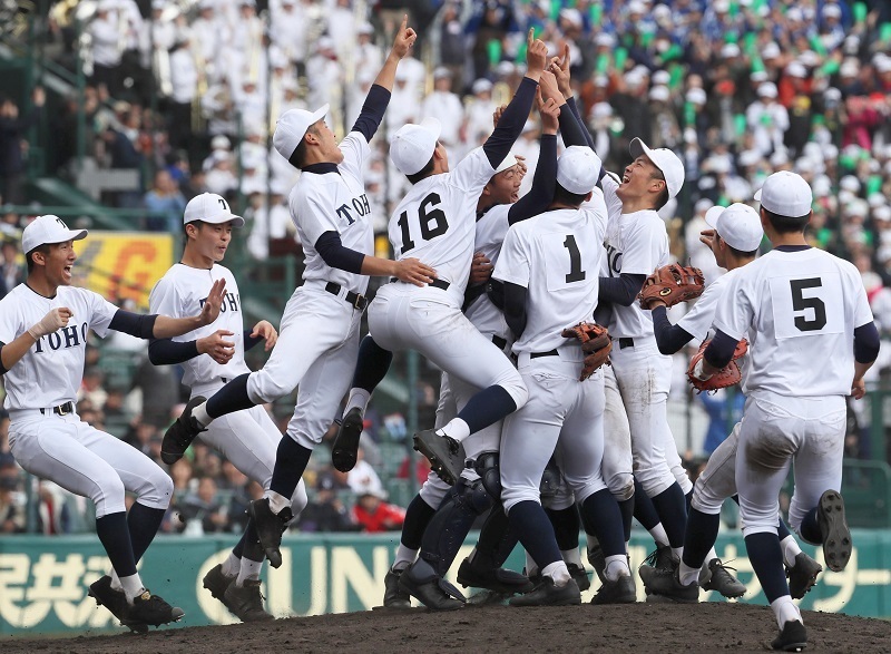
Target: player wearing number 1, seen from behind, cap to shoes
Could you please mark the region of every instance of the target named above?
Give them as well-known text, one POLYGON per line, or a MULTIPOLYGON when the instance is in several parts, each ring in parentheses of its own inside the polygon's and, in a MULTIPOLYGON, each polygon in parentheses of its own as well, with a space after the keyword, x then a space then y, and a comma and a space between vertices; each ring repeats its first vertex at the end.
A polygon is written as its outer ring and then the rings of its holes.
POLYGON ((570 146, 557 163, 557 188, 547 212, 513 225, 493 277, 505 284, 505 318, 529 401, 505 420, 501 499, 510 525, 531 555, 541 582, 513 606, 581 602, 540 504, 541 476, 551 456, 606 554, 606 582, 595 603, 634 602, 621 516, 604 482, 603 372, 585 381, 578 343, 561 332, 589 321, 597 306, 606 206, 600 160, 587 146, 570 146), (587 203, 587 204, 582 204, 587 203))

